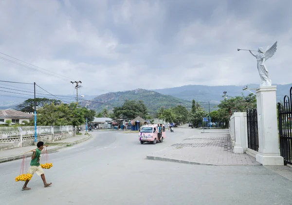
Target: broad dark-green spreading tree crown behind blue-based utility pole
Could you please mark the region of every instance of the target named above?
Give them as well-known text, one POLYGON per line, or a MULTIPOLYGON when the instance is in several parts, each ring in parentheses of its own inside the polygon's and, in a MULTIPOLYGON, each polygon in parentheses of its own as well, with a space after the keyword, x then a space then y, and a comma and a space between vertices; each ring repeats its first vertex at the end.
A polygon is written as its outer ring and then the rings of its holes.
MULTIPOLYGON (((36 104, 38 107, 43 107, 45 104, 60 104, 60 100, 56 99, 48 99, 48 98, 36 98, 36 104)), ((35 101, 33 98, 27 99, 24 102, 16 105, 16 109, 20 110, 21 112, 34 112, 35 101)))

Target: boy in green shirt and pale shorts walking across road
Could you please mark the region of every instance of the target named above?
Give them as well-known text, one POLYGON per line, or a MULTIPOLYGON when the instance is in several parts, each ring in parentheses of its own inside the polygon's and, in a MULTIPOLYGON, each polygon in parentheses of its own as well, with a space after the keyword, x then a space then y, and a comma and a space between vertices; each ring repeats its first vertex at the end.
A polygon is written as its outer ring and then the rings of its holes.
MULTIPOLYGON (((40 160, 40 152, 43 150, 44 147, 48 147, 48 145, 44 145, 44 142, 39 141, 37 142, 37 149, 32 150, 34 154, 32 155, 32 161, 30 163, 30 168, 28 170, 28 173, 31 174, 31 176, 36 172, 38 176, 41 177, 44 183, 44 187, 49 187, 52 183, 47 183, 45 174, 43 169, 40 167, 39 160, 40 160)), ((26 180, 22 190, 30 190, 31 188, 26 187, 28 184, 29 180, 26 180)))

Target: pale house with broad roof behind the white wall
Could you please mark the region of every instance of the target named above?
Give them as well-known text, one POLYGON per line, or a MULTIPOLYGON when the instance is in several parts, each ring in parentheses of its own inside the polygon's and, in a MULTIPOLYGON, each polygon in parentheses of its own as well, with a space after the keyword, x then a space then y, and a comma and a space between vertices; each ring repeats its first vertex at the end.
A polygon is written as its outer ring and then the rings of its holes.
POLYGON ((0 110, 0 124, 5 124, 6 120, 11 120, 12 124, 22 124, 23 121, 29 121, 31 119, 34 119, 33 114, 14 109, 0 110))

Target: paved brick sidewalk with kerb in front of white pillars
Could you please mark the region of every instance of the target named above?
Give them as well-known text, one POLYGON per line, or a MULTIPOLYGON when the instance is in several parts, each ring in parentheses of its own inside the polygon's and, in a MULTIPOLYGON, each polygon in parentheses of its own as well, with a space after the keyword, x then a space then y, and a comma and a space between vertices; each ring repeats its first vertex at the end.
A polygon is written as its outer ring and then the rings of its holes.
POLYGON ((234 154, 228 132, 208 130, 173 144, 153 154, 147 159, 174 161, 201 165, 260 165, 256 158, 248 154, 234 154))

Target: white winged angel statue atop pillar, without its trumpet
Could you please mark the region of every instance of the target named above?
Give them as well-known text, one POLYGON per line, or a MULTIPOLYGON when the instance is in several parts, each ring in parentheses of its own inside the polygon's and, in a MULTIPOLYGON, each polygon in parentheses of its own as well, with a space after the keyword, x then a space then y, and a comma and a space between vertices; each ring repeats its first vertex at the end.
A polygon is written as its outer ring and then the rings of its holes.
POLYGON ((277 50, 277 41, 274 43, 274 45, 270 49, 266 51, 264 51, 263 48, 258 48, 257 50, 258 54, 254 54, 251 50, 249 50, 250 53, 256 57, 257 69, 258 69, 259 76, 261 78, 261 84, 259 86, 272 85, 272 81, 269 76, 269 71, 264 63, 274 55, 276 50, 277 50))

